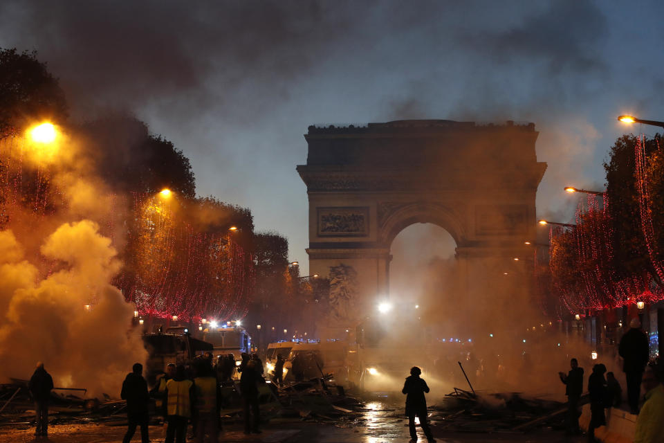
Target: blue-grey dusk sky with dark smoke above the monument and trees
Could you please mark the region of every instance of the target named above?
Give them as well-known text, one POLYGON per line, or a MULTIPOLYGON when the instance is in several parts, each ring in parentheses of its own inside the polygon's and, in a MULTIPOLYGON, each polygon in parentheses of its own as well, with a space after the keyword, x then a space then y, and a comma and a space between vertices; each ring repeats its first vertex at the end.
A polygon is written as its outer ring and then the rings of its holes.
MULTIPOLYGON (((603 188, 629 129, 664 120, 661 1, 25 1, 0 47, 37 50, 75 120, 129 111, 183 150, 198 194, 252 210, 306 265, 308 125, 533 122, 541 216, 603 188)), ((306 272, 306 269, 303 270, 306 272)))

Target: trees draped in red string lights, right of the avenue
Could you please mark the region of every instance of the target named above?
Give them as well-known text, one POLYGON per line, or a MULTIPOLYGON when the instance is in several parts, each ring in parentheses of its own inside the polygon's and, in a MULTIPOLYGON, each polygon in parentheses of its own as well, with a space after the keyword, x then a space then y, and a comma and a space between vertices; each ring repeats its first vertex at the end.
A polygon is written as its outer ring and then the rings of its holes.
POLYGON ((575 228, 551 235, 546 284, 573 314, 664 298, 661 137, 618 138, 604 168, 605 194, 580 204, 575 228))

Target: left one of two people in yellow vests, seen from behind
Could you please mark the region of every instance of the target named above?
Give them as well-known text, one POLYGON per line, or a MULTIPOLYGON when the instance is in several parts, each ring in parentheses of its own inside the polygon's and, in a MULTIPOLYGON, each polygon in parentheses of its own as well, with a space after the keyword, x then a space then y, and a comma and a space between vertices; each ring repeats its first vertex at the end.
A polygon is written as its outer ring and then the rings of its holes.
POLYGON ((165 443, 185 443, 187 422, 192 416, 194 383, 185 377, 185 367, 178 365, 175 377, 166 382, 165 416, 168 422, 165 443))

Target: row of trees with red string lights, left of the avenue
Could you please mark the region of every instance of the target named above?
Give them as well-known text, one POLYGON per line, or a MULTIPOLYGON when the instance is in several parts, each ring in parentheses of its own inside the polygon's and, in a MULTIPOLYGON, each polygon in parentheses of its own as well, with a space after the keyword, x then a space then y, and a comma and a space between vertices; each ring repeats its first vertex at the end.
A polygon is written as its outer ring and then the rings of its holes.
POLYGON ((80 215, 113 239, 124 264, 113 283, 141 314, 235 320, 250 312, 250 323, 313 332, 305 323, 324 305, 327 282, 299 278, 288 241, 255 233, 248 208, 196 197, 189 159, 140 120, 69 121, 65 95, 35 53, 0 49, 0 168, 0 228, 66 219, 65 177, 87 179, 111 202, 80 215), (44 120, 68 134, 69 164, 23 156, 26 127, 44 120), (165 188, 171 195, 160 194, 165 188))

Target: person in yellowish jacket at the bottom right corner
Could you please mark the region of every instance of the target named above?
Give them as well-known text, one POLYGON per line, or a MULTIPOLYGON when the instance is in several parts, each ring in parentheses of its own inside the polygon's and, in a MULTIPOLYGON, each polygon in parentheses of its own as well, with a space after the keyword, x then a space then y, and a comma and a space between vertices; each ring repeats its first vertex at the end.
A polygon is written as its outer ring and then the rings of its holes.
POLYGON ((657 371, 647 367, 641 381, 645 403, 636 417, 634 443, 664 442, 664 388, 657 371))

